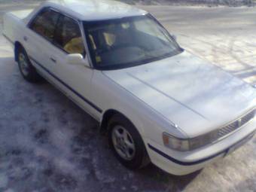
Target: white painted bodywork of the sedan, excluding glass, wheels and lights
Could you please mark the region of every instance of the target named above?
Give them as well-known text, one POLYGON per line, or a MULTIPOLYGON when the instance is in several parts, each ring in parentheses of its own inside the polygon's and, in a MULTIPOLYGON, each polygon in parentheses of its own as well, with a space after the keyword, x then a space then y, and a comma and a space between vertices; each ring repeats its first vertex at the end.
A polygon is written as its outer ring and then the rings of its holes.
MULTIPOLYGON (((255 90, 186 51, 157 62, 113 71, 70 65, 66 53, 26 27, 44 7, 52 7, 77 20, 108 20, 147 12, 103 0, 51 1, 34 11, 6 14, 4 35, 13 44, 23 44, 38 72, 96 120, 101 122, 105 111, 110 109, 130 119, 156 166, 175 175, 194 172, 224 157, 230 146, 254 133, 253 119, 224 139, 197 150, 181 152, 166 148, 163 132, 181 139, 194 138, 252 110, 255 90), (53 65, 50 58, 56 59, 57 64, 53 65)), ((87 45, 85 39, 84 44, 87 45)), ((86 61, 90 63, 90 55, 86 61)))

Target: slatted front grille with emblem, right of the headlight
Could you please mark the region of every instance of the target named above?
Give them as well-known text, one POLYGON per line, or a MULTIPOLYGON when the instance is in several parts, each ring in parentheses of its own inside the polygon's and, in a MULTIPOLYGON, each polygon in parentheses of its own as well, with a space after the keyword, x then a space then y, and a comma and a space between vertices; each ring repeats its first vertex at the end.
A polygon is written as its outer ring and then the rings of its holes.
POLYGON ((229 133, 239 129, 239 127, 248 123, 248 121, 254 118, 255 110, 245 114, 244 116, 240 117, 238 120, 233 121, 233 123, 228 124, 227 126, 222 127, 218 130, 218 139, 221 137, 226 136, 229 133))

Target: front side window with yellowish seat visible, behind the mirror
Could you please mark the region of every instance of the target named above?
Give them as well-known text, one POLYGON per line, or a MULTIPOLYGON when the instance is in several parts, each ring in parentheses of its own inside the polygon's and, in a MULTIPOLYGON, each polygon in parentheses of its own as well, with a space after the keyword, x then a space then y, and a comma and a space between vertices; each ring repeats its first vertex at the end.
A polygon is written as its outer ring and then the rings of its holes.
POLYGON ((56 26, 54 44, 69 54, 85 52, 78 23, 66 16, 62 16, 56 26))

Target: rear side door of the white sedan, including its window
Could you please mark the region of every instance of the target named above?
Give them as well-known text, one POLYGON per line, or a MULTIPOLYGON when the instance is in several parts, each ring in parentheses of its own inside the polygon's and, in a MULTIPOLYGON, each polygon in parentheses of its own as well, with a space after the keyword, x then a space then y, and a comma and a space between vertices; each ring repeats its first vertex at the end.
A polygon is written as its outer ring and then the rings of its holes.
POLYGON ((29 23, 29 30, 23 37, 24 47, 32 63, 47 76, 47 71, 53 71, 55 65, 49 52, 53 47, 53 36, 59 16, 56 11, 44 8, 29 23))

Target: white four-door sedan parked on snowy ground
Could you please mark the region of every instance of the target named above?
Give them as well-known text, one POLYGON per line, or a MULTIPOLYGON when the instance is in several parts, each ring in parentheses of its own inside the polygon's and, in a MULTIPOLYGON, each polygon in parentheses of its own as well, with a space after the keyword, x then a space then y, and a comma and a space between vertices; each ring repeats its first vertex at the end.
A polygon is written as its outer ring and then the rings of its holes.
POLYGON ((47 79, 91 114, 130 169, 185 175, 254 136, 254 88, 187 53, 146 11, 45 2, 6 14, 4 35, 23 78, 47 79))

